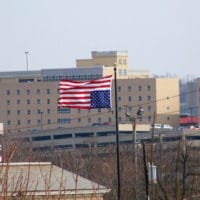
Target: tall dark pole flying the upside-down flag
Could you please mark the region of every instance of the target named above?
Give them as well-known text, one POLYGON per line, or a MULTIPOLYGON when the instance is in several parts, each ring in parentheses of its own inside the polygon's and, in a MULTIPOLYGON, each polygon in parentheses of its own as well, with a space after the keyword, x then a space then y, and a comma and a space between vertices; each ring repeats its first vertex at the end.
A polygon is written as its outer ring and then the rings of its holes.
POLYGON ((116 64, 114 64, 115 75, 115 125, 116 125, 116 156, 117 156, 117 200, 120 200, 120 159, 119 159, 119 127, 118 127, 118 105, 117 105, 117 78, 116 78, 116 64))

